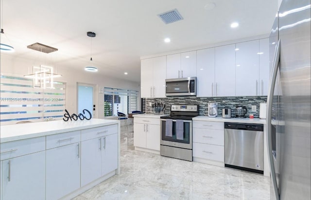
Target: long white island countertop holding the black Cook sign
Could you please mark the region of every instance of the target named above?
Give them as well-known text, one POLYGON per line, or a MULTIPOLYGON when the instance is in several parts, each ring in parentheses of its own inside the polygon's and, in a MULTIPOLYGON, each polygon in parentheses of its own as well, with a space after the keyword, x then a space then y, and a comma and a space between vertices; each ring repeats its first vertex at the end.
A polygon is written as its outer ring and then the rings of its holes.
POLYGON ((48 122, 4 125, 0 126, 0 143, 119 123, 119 120, 91 119, 67 122, 63 120, 55 120, 48 122))

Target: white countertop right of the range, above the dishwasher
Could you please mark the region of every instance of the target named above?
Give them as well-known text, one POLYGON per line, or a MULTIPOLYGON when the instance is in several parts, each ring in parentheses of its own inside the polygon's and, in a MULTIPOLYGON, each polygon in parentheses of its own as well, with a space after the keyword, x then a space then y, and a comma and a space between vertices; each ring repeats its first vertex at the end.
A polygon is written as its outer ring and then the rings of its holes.
POLYGON ((210 122, 233 122, 233 123, 249 123, 249 124, 266 124, 265 119, 259 118, 223 118, 223 117, 207 117, 207 116, 197 116, 193 117, 194 121, 210 121, 210 122))

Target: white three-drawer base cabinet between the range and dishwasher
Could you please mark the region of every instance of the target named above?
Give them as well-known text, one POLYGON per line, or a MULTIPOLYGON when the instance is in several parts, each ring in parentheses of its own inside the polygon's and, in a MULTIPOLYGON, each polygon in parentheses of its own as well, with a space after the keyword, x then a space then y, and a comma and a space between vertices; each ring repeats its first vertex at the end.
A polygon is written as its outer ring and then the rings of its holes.
POLYGON ((193 161, 224 166, 224 123, 193 121, 192 130, 193 161))

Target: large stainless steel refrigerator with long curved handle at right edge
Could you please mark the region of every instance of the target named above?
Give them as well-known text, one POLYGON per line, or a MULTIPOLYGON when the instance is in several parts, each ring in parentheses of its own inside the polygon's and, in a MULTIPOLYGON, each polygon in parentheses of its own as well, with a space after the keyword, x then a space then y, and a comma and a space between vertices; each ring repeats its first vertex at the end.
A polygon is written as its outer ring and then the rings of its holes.
POLYGON ((282 0, 271 30, 267 143, 272 200, 311 199, 311 1, 282 0))

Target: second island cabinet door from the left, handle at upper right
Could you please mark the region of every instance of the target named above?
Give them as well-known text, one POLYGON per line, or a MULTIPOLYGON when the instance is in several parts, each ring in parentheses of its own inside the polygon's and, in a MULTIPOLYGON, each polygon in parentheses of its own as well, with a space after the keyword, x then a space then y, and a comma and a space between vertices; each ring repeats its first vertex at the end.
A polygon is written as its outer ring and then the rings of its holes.
POLYGON ((46 150, 46 200, 59 199, 79 187, 80 143, 46 150))

